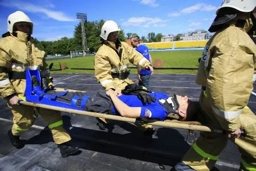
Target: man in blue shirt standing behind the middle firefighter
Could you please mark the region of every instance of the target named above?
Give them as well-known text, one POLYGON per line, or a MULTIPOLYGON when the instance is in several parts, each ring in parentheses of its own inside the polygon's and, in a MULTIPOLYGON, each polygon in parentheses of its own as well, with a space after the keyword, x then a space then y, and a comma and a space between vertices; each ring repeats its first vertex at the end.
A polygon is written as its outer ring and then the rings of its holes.
MULTIPOLYGON (((132 36, 131 44, 133 48, 136 48, 138 52, 140 52, 149 62, 152 63, 151 55, 149 54, 148 47, 145 44, 140 44, 140 37, 135 35, 132 36)), ((144 86, 148 90, 150 90, 150 76, 153 75, 151 70, 145 70, 143 68, 138 67, 138 79, 139 86, 144 86)))

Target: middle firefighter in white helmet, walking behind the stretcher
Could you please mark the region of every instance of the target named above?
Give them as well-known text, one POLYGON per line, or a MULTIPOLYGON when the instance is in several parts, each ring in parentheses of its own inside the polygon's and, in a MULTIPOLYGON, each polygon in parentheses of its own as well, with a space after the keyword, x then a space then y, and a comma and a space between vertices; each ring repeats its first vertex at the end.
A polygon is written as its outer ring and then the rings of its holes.
MULTIPOLYGON (((95 77, 105 90, 114 89, 116 95, 121 94, 121 90, 133 81, 128 78, 128 64, 151 70, 151 63, 139 52, 134 50, 129 44, 120 42, 118 34, 120 27, 114 21, 106 21, 101 27, 100 38, 102 46, 95 55, 95 77)), ((104 119, 98 119, 100 129, 105 129, 104 119)), ((140 125, 140 124, 139 124, 140 125)), ((152 133, 150 125, 140 127, 142 131, 152 133)), ((145 132, 145 133, 146 133, 145 132)), ((147 134, 147 133, 146 133, 147 134)))

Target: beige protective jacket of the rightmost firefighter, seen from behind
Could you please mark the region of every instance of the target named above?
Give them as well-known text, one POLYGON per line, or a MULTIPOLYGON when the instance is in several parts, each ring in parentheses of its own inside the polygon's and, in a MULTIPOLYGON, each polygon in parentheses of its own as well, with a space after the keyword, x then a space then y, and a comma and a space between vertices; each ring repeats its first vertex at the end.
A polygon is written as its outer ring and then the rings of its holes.
MULTIPOLYGON (((216 32, 205 46, 196 83, 205 88, 209 106, 226 131, 240 128, 239 115, 253 90, 256 46, 241 28, 216 32)), ((212 113, 212 112, 209 112, 212 113)))

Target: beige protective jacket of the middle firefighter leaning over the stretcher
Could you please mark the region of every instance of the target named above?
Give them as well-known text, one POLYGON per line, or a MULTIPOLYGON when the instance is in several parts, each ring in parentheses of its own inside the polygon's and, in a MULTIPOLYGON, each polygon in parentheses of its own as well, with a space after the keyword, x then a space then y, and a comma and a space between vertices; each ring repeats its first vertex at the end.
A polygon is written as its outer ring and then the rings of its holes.
POLYGON ((113 78, 111 73, 119 74, 127 71, 129 63, 139 67, 151 64, 127 43, 117 40, 117 46, 116 48, 113 42, 104 43, 95 55, 95 77, 106 90, 110 88, 124 89, 127 84, 133 83, 128 78, 124 80, 113 78))

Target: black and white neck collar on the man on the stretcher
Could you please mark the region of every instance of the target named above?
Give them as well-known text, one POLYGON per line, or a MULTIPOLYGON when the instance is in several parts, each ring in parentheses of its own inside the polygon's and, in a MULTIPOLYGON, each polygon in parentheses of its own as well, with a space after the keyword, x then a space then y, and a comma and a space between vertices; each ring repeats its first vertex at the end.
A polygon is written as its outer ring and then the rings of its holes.
POLYGON ((173 119, 182 120, 183 117, 176 112, 180 107, 178 104, 177 96, 169 97, 168 99, 160 99, 159 103, 165 108, 166 112, 169 113, 168 117, 172 117, 173 119))

